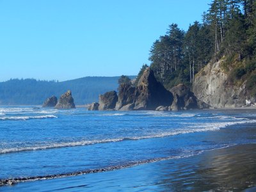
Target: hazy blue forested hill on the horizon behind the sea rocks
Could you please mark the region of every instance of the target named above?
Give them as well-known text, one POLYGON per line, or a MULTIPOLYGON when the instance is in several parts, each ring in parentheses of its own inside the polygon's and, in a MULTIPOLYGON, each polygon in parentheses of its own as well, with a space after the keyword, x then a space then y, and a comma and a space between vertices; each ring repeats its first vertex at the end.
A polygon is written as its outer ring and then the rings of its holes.
MULTIPOLYGON (((129 76, 131 79, 136 76, 129 76)), ((117 90, 119 77, 83 77, 70 81, 38 81, 10 79, 0 83, 1 105, 42 104, 45 99, 60 97, 72 91, 75 104, 88 104, 99 100, 99 94, 117 90)))

